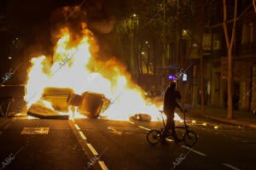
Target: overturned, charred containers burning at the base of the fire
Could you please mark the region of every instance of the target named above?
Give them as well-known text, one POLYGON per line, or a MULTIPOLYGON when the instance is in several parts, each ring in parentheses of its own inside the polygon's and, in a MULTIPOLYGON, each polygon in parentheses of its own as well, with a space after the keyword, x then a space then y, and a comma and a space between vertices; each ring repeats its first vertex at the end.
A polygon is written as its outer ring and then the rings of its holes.
POLYGON ((103 94, 84 92, 79 95, 74 94, 71 88, 44 88, 42 98, 27 113, 39 118, 67 119, 68 115, 65 113, 71 111, 74 115, 77 110, 84 116, 97 118, 108 109, 109 104, 110 100, 103 94))

